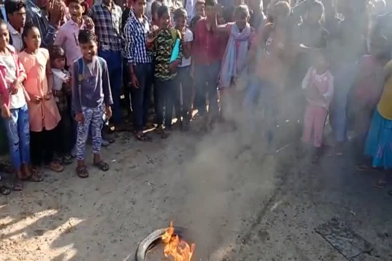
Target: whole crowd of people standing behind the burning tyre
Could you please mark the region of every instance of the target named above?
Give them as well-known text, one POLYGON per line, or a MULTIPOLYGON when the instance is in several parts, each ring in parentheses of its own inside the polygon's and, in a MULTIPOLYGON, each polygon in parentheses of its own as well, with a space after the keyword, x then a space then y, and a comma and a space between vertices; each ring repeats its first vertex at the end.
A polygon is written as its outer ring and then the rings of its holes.
POLYGON ((122 95, 138 141, 152 140, 144 132, 151 107, 165 139, 173 110, 182 131, 195 109, 208 131, 229 118, 230 101, 241 99, 249 130, 260 133, 254 122, 262 120, 269 144, 283 106, 276 97, 302 86, 295 110, 303 113, 303 152, 317 161, 328 121, 336 147, 347 141, 347 129, 355 132, 359 169, 389 169, 390 3, 297 2, 6 0, 0 103, 12 188, 42 181, 41 165, 61 172, 74 158, 77 175, 88 177, 89 137, 93 165, 107 171, 100 150, 112 140, 103 136, 104 124, 110 119, 116 131, 129 130, 122 95), (255 114, 260 108, 263 119, 255 114))

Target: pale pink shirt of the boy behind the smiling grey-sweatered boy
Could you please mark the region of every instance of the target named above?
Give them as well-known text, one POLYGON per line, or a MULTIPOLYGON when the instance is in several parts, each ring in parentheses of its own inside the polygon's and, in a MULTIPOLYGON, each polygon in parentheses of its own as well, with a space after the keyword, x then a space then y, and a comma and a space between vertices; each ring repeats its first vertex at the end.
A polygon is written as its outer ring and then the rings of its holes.
POLYGON ((64 49, 68 66, 71 66, 75 60, 82 57, 78 41, 80 29, 85 29, 84 22, 79 28, 79 25, 74 22, 74 20, 70 19, 61 25, 53 43, 54 45, 60 45, 64 49))

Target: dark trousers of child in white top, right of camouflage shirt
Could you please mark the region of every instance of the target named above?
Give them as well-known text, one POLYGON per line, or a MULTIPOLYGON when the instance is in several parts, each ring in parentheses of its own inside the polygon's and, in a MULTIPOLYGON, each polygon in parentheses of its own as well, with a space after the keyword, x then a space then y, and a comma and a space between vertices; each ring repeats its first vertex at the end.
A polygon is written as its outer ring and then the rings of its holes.
POLYGON ((190 66, 178 67, 177 76, 174 79, 175 97, 174 108, 176 110, 176 117, 178 120, 183 118, 183 121, 189 122, 192 118, 192 93, 193 85, 190 77, 190 66), (182 89, 182 95, 181 95, 182 89), (182 98, 182 108, 181 108, 182 98))

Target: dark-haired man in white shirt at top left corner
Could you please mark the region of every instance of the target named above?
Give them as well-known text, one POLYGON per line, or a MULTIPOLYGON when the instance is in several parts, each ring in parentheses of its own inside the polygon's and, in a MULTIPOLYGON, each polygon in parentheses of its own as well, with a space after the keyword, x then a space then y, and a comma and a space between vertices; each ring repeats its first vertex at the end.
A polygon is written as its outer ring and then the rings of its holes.
POLYGON ((23 49, 22 33, 26 22, 26 4, 21 0, 6 0, 4 5, 8 16, 10 44, 19 53, 23 49))

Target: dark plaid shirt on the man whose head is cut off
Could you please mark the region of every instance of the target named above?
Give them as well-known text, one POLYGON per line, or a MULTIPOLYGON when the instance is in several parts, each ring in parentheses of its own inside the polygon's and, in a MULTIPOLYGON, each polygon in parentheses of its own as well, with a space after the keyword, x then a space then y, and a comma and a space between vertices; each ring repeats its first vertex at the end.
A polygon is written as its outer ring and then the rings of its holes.
POLYGON ((121 50, 121 8, 113 2, 110 11, 104 3, 99 3, 93 5, 87 15, 94 21, 99 48, 111 51, 121 50))

